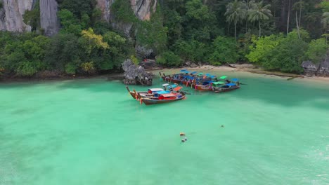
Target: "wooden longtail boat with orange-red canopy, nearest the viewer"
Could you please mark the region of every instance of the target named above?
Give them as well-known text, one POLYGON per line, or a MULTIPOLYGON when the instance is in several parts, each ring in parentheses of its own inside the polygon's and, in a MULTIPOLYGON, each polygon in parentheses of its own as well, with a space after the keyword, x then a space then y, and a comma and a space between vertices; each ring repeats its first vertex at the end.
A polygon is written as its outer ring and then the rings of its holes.
POLYGON ((146 98, 142 97, 141 103, 143 102, 146 105, 164 104, 169 102, 176 102, 183 99, 185 99, 185 95, 183 93, 168 93, 168 94, 162 94, 159 97, 146 97, 146 98))

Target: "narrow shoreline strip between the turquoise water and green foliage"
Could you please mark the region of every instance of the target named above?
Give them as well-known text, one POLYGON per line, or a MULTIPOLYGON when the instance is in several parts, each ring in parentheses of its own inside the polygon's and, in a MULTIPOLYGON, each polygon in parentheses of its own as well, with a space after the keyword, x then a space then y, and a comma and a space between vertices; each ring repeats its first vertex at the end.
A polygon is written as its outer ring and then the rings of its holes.
MULTIPOLYGON (((302 74, 288 74, 280 71, 265 71, 264 69, 260 69, 254 67, 252 64, 233 64, 233 67, 228 66, 212 66, 212 65, 202 65, 200 67, 176 67, 176 68, 153 68, 146 69, 146 71, 153 72, 156 76, 158 75, 158 71, 164 70, 181 70, 188 69, 191 71, 219 71, 219 72, 244 72, 248 74, 258 74, 265 76, 276 76, 280 78, 287 78, 287 80, 302 80, 302 81, 321 81, 321 82, 329 82, 329 77, 321 77, 321 76, 304 76, 302 74)), ((122 73, 113 73, 113 74, 96 74, 92 76, 56 76, 51 78, 0 78, 0 84, 5 83, 24 83, 24 82, 46 82, 46 81, 67 81, 67 80, 75 80, 75 79, 91 79, 91 78, 106 78, 107 81, 113 80, 122 80, 122 73)))

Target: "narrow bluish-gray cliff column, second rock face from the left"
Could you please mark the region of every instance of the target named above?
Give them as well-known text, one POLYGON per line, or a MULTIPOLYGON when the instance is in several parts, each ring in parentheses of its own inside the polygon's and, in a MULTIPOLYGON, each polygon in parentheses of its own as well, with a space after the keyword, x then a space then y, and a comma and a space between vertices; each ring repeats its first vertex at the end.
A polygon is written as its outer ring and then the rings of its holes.
POLYGON ((40 23, 46 36, 58 33, 58 4, 56 0, 40 0, 40 23))

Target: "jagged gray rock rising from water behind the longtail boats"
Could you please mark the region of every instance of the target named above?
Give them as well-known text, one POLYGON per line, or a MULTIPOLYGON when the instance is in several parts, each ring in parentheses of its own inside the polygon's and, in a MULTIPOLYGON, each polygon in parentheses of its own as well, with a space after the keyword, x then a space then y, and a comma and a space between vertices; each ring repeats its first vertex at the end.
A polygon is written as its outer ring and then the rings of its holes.
POLYGON ((152 85, 153 74, 146 72, 141 66, 136 66, 131 60, 125 60, 122 69, 124 69, 124 84, 152 85))

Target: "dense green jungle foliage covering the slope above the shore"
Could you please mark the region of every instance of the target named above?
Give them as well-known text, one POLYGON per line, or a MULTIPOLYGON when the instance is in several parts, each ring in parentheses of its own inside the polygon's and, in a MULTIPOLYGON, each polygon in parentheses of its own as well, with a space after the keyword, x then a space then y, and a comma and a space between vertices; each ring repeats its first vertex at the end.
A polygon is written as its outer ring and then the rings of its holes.
POLYGON ((0 76, 111 71, 127 58, 145 57, 136 55, 136 46, 152 49, 150 57, 168 67, 252 62, 300 73, 302 61, 321 62, 328 50, 328 1, 166 0, 152 6, 150 20, 139 20, 129 1, 118 0, 110 10, 115 28, 102 19, 96 0, 58 4, 56 36, 43 36, 39 1, 23 15, 31 33, 1 32, 0 76), (120 29, 127 25, 129 33, 120 29))

